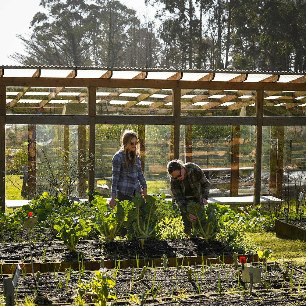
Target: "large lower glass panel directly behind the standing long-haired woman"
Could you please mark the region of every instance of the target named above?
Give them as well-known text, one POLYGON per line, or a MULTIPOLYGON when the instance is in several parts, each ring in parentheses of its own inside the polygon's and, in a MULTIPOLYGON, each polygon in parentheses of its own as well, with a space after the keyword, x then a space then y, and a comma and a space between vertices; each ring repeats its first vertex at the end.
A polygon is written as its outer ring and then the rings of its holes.
POLYGON ((101 195, 109 196, 112 177, 112 158, 121 147, 121 136, 133 129, 140 141, 140 160, 148 185, 148 193, 169 194, 166 165, 173 159, 170 125, 96 125, 95 181, 101 195))

